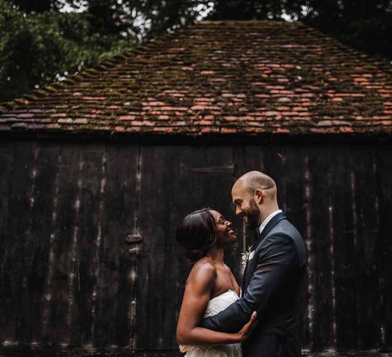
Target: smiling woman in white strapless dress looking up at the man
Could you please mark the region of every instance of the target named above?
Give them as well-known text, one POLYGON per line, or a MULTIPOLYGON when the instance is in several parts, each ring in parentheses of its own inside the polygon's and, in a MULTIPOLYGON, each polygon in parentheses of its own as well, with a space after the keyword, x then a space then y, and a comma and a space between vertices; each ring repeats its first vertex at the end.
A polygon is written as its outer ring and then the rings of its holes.
POLYGON ((224 247, 237 239, 231 222, 211 209, 195 211, 178 225, 176 238, 193 264, 177 324, 180 351, 186 352, 185 357, 241 357, 240 343, 255 327, 256 312, 235 334, 199 327, 203 318, 225 310, 240 295, 235 277, 223 261, 224 247))

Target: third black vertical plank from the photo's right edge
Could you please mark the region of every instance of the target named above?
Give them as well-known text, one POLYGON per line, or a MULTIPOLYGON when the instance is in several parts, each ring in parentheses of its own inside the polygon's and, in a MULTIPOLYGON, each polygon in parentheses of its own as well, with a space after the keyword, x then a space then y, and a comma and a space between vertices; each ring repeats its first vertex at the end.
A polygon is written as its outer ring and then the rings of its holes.
POLYGON ((352 191, 352 160, 345 147, 337 147, 331 182, 334 239, 336 346, 358 348, 357 257, 355 251, 355 197, 352 191))

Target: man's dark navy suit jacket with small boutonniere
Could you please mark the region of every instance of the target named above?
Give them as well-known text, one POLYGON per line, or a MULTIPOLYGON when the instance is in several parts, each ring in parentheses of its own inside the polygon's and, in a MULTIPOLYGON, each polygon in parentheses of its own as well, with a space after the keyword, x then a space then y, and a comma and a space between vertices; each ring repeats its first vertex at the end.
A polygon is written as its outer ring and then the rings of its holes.
POLYGON ((284 213, 265 226, 242 281, 242 297, 202 321, 202 327, 235 333, 257 311, 258 325, 242 344, 243 357, 300 356, 298 317, 306 249, 284 213))

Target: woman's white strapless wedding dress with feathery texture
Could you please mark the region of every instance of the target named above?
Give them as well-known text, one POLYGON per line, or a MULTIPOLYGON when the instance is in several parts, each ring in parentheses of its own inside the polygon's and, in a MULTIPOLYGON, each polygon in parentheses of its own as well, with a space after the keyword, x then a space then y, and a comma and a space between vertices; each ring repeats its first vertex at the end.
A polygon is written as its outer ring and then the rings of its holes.
MULTIPOLYGON (((238 295, 233 290, 220 294, 212 298, 207 305, 204 317, 214 316, 225 310, 229 305, 238 299, 238 295)), ((241 344, 219 345, 213 347, 191 347, 180 346, 181 352, 186 352, 184 357, 241 357, 241 344)))

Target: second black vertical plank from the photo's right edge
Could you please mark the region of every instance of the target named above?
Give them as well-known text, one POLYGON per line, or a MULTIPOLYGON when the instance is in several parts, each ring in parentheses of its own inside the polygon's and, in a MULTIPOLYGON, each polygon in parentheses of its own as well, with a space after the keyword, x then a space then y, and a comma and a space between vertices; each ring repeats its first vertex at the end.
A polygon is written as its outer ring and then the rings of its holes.
POLYGON ((372 147, 363 147, 353 156, 356 202, 356 253, 358 282, 359 348, 378 348, 380 336, 380 288, 377 251, 379 236, 379 199, 376 188, 372 147))

